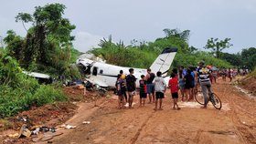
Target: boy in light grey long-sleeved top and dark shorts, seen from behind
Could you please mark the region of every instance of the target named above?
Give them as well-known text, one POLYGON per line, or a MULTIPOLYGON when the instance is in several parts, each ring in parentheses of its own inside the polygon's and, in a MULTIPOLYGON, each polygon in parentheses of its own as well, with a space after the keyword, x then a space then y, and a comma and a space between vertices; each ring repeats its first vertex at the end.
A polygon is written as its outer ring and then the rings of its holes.
POLYGON ((166 90, 166 84, 165 84, 165 80, 162 76, 162 72, 158 71, 156 73, 155 79, 154 79, 154 84, 155 84, 155 108, 154 110, 157 110, 157 103, 158 103, 158 99, 159 99, 159 110, 163 110, 162 108, 162 99, 165 98, 165 90, 166 90))

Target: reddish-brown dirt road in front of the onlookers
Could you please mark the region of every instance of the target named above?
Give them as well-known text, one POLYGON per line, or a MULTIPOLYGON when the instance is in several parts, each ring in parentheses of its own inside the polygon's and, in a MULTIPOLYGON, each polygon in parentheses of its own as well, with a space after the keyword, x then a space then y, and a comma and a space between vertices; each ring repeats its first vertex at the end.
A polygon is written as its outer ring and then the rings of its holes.
POLYGON ((171 108, 166 94, 164 110, 153 110, 153 104, 133 109, 117 109, 116 99, 98 101, 99 107, 80 106, 78 114, 68 121, 77 129, 64 130, 53 143, 71 144, 148 144, 148 143, 256 143, 256 100, 248 98, 229 82, 213 85, 223 108, 199 108, 196 102, 179 102, 181 110, 171 108), (91 124, 82 124, 82 121, 91 124))

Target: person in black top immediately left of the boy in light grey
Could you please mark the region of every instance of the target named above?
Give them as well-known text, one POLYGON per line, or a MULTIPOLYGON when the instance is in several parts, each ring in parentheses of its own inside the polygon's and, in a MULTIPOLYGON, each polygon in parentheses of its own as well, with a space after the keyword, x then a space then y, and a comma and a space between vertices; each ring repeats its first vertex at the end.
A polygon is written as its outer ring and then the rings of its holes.
POLYGON ((154 78, 155 78, 155 74, 151 72, 150 68, 147 68, 147 74, 146 74, 145 80, 146 80, 146 93, 148 94, 148 97, 149 97, 149 103, 152 102, 152 97, 153 97, 153 102, 155 102, 155 86, 153 84, 154 78))

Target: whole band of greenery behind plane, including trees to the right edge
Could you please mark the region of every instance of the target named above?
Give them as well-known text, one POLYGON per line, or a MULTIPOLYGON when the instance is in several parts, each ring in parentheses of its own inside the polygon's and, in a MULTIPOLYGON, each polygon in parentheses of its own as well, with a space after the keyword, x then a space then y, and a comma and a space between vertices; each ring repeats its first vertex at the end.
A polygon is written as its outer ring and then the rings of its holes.
POLYGON ((108 63, 123 67, 150 67, 155 58, 165 47, 176 47, 178 52, 173 61, 173 67, 197 66, 204 59, 207 65, 216 67, 238 67, 253 69, 256 66, 256 48, 243 49, 239 54, 222 53, 225 48, 232 46, 230 38, 219 40, 210 38, 207 47, 212 52, 198 51, 197 47, 189 46, 189 30, 164 29, 165 37, 159 37, 154 42, 138 42, 133 39, 132 45, 124 46, 123 42, 113 43, 112 36, 103 38, 100 47, 91 50, 91 53, 103 57, 108 63), (118 60, 117 60, 118 59, 118 60))

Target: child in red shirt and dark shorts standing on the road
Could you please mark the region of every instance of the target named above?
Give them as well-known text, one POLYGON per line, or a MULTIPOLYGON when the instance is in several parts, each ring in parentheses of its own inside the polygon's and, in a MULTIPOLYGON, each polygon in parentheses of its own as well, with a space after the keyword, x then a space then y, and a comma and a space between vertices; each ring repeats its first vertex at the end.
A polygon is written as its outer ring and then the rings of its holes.
POLYGON ((169 88, 170 88, 171 93, 172 93, 172 98, 174 99, 174 109, 177 108, 179 110, 180 108, 177 106, 178 83, 177 83, 176 74, 174 74, 174 73, 171 74, 171 78, 169 80, 169 88))

